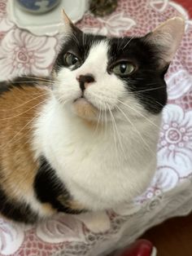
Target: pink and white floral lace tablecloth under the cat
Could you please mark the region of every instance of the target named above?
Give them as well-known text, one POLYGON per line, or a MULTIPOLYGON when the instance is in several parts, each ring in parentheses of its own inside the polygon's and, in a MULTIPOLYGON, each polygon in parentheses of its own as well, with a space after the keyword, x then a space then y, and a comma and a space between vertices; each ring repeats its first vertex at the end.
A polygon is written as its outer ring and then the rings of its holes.
MULTIPOLYGON (((26 227, 0 218, 0 255, 106 255, 164 219, 192 210, 192 20, 178 3, 190 6, 190 0, 176 1, 120 0, 112 15, 94 18, 88 12, 78 23, 85 32, 142 35, 174 15, 185 17, 185 37, 166 78, 168 105, 151 186, 133 204, 103 213, 104 220, 58 214, 26 227)), ((0 80, 47 75, 57 46, 58 36, 36 37, 16 27, 7 16, 7 1, 0 0, 0 80)))

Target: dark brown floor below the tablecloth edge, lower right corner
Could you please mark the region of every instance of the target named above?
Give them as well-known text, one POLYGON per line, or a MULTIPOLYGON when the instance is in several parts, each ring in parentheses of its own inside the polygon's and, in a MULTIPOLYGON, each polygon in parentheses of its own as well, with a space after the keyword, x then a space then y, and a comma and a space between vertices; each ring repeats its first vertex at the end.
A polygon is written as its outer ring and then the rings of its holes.
POLYGON ((192 214, 153 227, 142 238, 155 245, 157 256, 192 256, 192 214))

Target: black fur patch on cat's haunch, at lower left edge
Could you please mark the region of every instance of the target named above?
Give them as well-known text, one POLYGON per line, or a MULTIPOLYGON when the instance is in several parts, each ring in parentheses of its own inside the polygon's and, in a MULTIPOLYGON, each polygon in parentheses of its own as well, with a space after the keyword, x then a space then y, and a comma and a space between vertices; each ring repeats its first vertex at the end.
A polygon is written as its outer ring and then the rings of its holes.
POLYGON ((11 218, 21 223, 37 222, 37 214, 33 212, 29 205, 11 200, 10 196, 0 187, 0 212, 7 218, 11 218))

